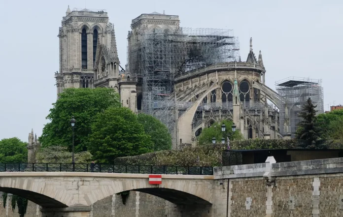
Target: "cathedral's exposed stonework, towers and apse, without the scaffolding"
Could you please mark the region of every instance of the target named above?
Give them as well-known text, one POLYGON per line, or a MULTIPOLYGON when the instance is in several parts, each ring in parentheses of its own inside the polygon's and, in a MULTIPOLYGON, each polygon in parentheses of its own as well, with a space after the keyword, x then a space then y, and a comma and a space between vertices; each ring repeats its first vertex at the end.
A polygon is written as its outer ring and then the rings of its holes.
MULTIPOLYGON (((133 20, 132 32, 143 26, 172 31, 179 28, 179 20, 178 16, 156 12, 142 14, 133 20)), ((71 11, 68 7, 58 37, 57 94, 66 88, 113 88, 120 94, 123 106, 135 113, 141 111, 144 78, 135 77, 137 72, 128 72, 120 66, 114 26, 106 12, 71 11)), ((129 42, 129 46, 134 43, 129 42)), ((129 65, 129 70, 133 68, 129 65)), ((245 62, 213 64, 175 76, 171 97, 186 102, 187 108, 177 108, 173 148, 196 144, 196 136, 202 129, 222 119, 232 120, 246 139, 290 138, 287 105, 285 122, 280 126, 279 109, 267 102, 278 108, 285 105, 265 85, 265 74, 261 52, 256 58, 250 40, 245 62), (280 133, 280 127, 285 134, 280 133)))

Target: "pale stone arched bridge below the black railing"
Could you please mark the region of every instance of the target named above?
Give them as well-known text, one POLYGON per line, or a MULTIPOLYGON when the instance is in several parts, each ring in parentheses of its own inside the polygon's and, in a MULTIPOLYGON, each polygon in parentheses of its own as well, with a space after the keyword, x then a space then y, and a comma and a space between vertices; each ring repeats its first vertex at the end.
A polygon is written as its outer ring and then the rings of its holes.
POLYGON ((128 190, 152 194, 176 205, 213 203, 214 176, 162 175, 161 185, 150 185, 148 177, 147 174, 3 172, 0 191, 31 200, 43 208, 47 217, 57 211, 81 215, 95 202, 128 190))

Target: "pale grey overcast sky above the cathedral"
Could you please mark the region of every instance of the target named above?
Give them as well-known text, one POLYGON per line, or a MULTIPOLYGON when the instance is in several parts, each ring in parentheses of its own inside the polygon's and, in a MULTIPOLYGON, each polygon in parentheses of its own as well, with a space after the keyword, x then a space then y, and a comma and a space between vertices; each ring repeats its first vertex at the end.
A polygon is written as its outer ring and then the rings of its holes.
MULTIPOLYGON (((106 9, 114 23, 119 58, 126 63, 131 20, 155 9, 155 0, 87 0, 106 9)), ((0 0, 0 139, 40 136, 56 101, 58 28, 70 9, 85 0, 0 0)), ((156 11, 179 15, 182 27, 233 29, 246 60, 249 37, 262 51, 266 83, 289 76, 322 79, 324 109, 343 103, 342 0, 156 0, 156 11)), ((69 121, 69 120, 66 120, 69 121)))

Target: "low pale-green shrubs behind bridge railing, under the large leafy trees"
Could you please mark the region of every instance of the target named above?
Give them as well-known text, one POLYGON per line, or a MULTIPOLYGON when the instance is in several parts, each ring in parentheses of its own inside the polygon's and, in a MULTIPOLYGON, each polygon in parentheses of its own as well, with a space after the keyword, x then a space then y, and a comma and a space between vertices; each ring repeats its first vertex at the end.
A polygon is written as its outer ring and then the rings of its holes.
MULTIPOLYGON (((92 160, 89 152, 80 152, 74 155, 75 163, 89 163, 92 160)), ((72 154, 67 147, 49 146, 41 148, 36 154, 38 163, 71 163, 72 154)))

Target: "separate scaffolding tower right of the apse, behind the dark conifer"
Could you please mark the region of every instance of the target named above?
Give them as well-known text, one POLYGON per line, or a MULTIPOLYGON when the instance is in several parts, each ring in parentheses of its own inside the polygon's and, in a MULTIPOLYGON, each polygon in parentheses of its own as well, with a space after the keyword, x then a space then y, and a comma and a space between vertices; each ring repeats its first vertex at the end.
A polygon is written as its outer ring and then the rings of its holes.
POLYGON ((289 77, 277 81, 275 87, 281 99, 279 114, 280 132, 282 134, 291 133, 292 138, 294 138, 297 124, 301 121, 298 114, 308 98, 311 98, 312 103, 317 105, 317 114, 324 113, 323 88, 320 79, 289 77), (286 107, 288 114, 286 114, 286 107), (287 117, 290 123, 290 132, 286 132, 283 127, 287 117))

